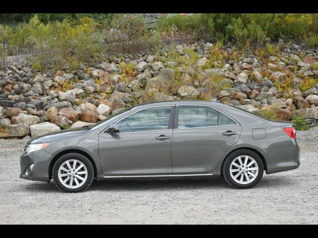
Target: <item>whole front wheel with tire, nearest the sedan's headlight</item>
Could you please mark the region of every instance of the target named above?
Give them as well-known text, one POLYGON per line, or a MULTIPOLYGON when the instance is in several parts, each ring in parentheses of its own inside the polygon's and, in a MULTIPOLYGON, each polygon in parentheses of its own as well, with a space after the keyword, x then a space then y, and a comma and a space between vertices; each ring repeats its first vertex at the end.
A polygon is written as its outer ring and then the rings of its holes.
POLYGON ((52 174, 56 186, 64 192, 84 191, 94 179, 93 165, 78 153, 65 154, 59 158, 52 174))

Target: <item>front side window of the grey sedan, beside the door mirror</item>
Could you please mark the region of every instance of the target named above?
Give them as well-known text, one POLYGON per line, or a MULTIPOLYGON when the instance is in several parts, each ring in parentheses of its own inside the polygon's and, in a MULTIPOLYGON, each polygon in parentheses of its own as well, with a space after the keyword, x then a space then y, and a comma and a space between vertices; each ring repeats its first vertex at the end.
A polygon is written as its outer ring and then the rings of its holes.
POLYGON ((171 107, 149 108, 128 116, 116 124, 119 132, 137 132, 168 129, 171 107))

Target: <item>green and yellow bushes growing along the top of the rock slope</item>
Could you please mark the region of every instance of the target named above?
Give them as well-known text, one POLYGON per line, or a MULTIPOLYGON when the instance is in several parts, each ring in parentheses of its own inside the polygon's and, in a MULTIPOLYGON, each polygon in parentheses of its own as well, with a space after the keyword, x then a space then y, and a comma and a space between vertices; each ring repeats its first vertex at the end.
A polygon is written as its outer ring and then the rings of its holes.
POLYGON ((157 51, 163 44, 231 41, 242 49, 273 42, 318 46, 318 14, 163 14, 149 29, 143 14, 0 14, 0 56, 35 54, 37 64, 94 61, 104 54, 157 51))

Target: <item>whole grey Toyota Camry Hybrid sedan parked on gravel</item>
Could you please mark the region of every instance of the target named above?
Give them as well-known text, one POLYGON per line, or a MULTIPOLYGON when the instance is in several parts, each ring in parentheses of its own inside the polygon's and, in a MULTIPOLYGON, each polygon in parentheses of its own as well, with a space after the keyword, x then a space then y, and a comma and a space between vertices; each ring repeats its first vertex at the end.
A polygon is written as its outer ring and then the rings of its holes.
POLYGON ((54 180, 66 192, 93 179, 222 176, 251 188, 266 174, 297 169, 293 124, 211 101, 144 103, 92 126, 27 142, 20 178, 54 180))

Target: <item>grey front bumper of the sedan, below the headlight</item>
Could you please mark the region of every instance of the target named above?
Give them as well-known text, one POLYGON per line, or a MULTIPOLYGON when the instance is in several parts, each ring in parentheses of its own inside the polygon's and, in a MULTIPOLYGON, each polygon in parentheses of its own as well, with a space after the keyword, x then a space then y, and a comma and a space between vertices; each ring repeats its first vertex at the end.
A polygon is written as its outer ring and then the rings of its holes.
POLYGON ((20 178, 35 181, 50 181, 49 166, 52 159, 53 155, 45 150, 34 151, 28 154, 24 152, 20 156, 20 178))

